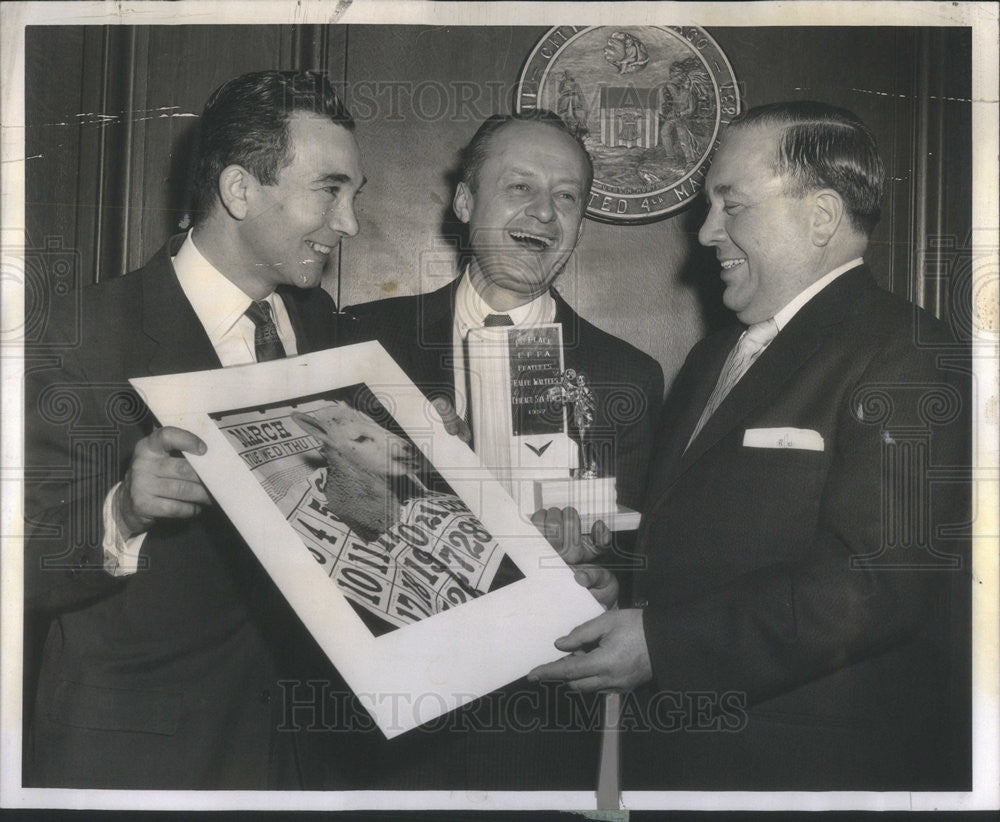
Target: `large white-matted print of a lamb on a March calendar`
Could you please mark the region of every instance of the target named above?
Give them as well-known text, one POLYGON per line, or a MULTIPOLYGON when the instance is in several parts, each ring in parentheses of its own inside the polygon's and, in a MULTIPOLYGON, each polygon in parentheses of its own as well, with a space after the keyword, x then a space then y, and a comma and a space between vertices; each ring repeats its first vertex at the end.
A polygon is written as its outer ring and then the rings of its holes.
POLYGON ((601 613, 376 342, 132 383, 387 738, 601 613))

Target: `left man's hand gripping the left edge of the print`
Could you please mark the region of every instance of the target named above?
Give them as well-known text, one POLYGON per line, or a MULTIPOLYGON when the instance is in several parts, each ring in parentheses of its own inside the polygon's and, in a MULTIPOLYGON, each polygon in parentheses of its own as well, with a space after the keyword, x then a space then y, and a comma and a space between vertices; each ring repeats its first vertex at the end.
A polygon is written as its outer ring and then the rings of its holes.
POLYGON ((204 454, 205 443, 182 428, 158 428, 136 443, 132 463, 118 487, 116 504, 126 537, 144 533, 158 519, 187 519, 212 498, 179 451, 204 454))

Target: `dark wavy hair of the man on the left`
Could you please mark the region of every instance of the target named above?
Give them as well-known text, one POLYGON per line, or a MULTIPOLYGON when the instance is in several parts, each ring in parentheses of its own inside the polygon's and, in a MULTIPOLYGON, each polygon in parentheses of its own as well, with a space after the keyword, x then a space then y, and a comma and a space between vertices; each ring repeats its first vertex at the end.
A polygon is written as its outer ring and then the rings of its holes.
POLYGON ((265 185, 277 182, 292 161, 288 119, 297 111, 311 111, 354 130, 354 119, 324 72, 255 71, 212 92, 201 115, 194 177, 195 208, 201 216, 212 209, 226 166, 243 166, 265 185))

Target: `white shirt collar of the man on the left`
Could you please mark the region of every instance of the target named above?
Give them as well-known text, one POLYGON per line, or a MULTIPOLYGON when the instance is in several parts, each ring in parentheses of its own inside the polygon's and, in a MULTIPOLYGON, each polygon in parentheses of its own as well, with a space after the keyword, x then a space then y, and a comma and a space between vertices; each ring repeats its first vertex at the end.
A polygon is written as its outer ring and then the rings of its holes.
MULTIPOLYGON (((197 314, 212 345, 225 336, 253 302, 250 297, 219 269, 212 265, 194 244, 192 232, 173 258, 177 280, 184 296, 197 314)), ((274 307, 274 294, 267 301, 274 307)))

